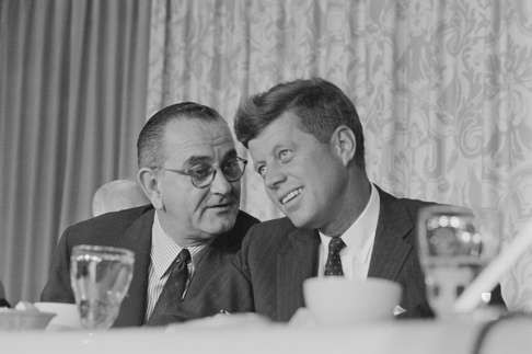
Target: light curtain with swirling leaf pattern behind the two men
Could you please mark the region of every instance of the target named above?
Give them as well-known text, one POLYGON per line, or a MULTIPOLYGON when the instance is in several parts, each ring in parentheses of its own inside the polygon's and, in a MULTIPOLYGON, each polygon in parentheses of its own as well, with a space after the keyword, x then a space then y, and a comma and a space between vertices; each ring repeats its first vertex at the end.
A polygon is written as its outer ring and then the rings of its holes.
MULTIPOLYGON (((356 103, 385 190, 501 210, 506 240, 532 217, 530 1, 153 2, 148 114, 194 100, 232 124, 242 96, 314 76, 356 103)), ((243 191, 278 216, 253 169, 243 191)), ((511 308, 532 309, 531 259, 506 279, 511 308)))

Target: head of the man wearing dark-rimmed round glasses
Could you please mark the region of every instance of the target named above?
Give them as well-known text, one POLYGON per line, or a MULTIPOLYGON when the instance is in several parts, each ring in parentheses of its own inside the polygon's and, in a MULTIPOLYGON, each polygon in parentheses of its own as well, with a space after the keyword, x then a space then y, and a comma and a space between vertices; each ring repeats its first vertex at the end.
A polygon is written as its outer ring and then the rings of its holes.
POLYGON ((194 102, 170 105, 146 123, 137 148, 139 182, 182 245, 234 226, 245 164, 218 112, 194 102))

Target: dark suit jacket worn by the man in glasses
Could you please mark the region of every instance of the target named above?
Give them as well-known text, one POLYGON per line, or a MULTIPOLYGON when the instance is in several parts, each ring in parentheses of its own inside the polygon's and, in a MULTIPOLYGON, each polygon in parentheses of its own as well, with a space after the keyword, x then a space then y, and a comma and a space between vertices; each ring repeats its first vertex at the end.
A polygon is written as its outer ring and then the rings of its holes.
MULTIPOLYGON (((67 228, 57 245, 48 283, 41 295, 41 300, 74 302, 69 273, 72 247, 82 243, 122 247, 135 252, 135 266, 129 290, 113 326, 142 324, 147 306, 153 216, 153 207, 142 206, 105 214, 67 228)), ((185 296, 186 300, 197 297, 204 290, 204 286, 210 286, 209 284, 217 278, 218 272, 223 270, 224 264, 229 264, 230 258, 240 249, 247 229, 257 221, 254 217, 240 212, 234 228, 217 237, 209 247, 200 251, 185 296)), ((193 301, 178 313, 178 319, 174 320, 211 316, 220 309, 217 304, 209 301, 193 301)))

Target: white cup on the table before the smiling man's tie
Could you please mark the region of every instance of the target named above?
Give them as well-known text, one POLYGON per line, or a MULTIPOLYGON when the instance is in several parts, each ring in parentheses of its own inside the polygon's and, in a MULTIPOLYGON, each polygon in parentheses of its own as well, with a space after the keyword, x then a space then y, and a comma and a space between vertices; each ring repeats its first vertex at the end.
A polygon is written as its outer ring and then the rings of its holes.
POLYGON ((321 324, 351 324, 393 319, 401 301, 400 284, 367 278, 352 281, 338 276, 304 281, 307 308, 321 324))

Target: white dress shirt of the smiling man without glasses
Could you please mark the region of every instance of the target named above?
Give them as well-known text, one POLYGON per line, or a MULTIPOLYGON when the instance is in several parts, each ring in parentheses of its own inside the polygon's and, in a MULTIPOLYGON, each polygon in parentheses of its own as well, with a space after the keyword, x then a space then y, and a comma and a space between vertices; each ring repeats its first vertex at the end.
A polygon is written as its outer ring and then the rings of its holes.
MULTIPOLYGON (((377 222, 379 220, 380 198, 375 186, 371 184, 371 194, 362 213, 340 238, 346 247, 340 251, 344 276, 349 279, 365 279, 368 277, 371 252, 375 239, 377 222)), ((319 276, 324 276, 327 262, 328 242, 331 236, 320 232, 319 276)))

